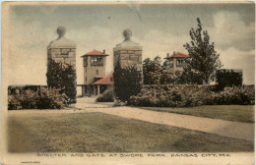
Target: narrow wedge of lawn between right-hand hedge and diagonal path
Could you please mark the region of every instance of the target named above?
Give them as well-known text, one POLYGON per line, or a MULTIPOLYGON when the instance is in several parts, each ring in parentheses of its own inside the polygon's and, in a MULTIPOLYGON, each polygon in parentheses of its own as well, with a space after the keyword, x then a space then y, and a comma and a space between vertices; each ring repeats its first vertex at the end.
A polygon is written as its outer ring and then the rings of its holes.
POLYGON ((138 107, 141 109, 223 119, 235 122, 254 123, 254 105, 205 105, 189 108, 138 107))

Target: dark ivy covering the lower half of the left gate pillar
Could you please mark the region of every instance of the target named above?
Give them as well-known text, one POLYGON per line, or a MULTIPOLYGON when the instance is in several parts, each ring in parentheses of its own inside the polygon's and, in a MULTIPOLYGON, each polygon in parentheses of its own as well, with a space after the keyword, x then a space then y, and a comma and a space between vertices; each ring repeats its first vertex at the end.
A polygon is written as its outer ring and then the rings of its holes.
POLYGON ((47 70, 47 84, 56 88, 64 88, 64 92, 71 102, 76 102, 77 97, 77 77, 76 70, 72 65, 62 64, 50 60, 47 70))

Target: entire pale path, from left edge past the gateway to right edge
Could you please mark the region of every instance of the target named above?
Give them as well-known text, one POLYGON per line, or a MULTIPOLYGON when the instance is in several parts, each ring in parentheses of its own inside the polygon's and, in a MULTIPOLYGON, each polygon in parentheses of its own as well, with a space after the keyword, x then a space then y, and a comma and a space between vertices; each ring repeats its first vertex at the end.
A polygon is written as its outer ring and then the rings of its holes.
POLYGON ((179 115, 167 112, 156 112, 133 107, 110 107, 112 103, 85 102, 78 100, 74 108, 69 110, 23 110, 9 111, 10 115, 48 115, 62 113, 88 113, 101 112, 123 118, 136 119, 156 124, 164 124, 178 128, 195 130, 209 134, 216 134, 227 138, 239 138, 254 141, 254 124, 230 122, 219 119, 201 118, 189 115, 179 115), (78 110, 80 109, 80 110, 78 110))

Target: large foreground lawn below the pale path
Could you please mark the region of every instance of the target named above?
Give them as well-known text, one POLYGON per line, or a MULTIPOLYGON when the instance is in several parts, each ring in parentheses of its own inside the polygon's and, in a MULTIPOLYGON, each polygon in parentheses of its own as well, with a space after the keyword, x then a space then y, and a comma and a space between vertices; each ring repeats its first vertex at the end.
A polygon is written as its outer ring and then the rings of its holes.
POLYGON ((11 116, 10 152, 253 151, 253 142, 102 113, 11 116))

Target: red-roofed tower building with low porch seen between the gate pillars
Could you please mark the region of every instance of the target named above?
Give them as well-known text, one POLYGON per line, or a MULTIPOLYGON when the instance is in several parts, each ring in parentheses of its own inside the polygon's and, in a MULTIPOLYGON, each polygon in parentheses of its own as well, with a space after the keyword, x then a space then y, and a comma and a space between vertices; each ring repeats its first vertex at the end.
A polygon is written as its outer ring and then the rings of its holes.
POLYGON ((84 65, 84 84, 80 84, 83 96, 100 94, 113 83, 112 74, 105 76, 107 56, 104 50, 96 49, 81 56, 84 65))

